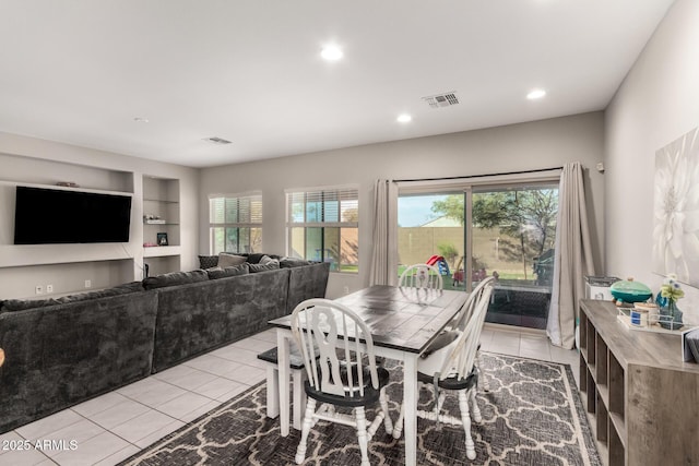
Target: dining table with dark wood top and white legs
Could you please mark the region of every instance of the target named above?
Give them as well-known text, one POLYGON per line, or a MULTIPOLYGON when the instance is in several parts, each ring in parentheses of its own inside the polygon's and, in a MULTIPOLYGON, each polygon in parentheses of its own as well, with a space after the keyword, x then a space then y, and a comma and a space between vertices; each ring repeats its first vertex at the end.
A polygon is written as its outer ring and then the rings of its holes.
MULTIPOLYGON (((403 362, 405 464, 417 461, 417 360, 463 307, 467 294, 376 285, 336 299, 368 325, 376 356, 403 362)), ((289 433, 291 315, 270 321, 276 327, 280 428, 289 433)))

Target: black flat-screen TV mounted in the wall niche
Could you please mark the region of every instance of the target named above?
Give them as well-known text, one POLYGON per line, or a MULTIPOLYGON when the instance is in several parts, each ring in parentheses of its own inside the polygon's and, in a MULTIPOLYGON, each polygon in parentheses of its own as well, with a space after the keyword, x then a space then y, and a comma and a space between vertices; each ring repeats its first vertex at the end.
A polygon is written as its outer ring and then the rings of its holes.
POLYGON ((127 242, 131 196, 16 187, 15 244, 127 242))

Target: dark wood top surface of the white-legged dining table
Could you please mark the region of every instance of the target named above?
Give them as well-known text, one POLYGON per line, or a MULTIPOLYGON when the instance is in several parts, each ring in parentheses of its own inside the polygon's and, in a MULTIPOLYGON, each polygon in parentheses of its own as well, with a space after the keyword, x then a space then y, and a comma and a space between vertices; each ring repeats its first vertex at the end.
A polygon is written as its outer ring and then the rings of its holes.
MULTIPOLYGON (((376 346, 419 354, 459 312, 467 297, 464 291, 375 285, 335 301, 362 318, 376 346)), ((291 315, 285 315, 270 324, 291 328, 291 315)))

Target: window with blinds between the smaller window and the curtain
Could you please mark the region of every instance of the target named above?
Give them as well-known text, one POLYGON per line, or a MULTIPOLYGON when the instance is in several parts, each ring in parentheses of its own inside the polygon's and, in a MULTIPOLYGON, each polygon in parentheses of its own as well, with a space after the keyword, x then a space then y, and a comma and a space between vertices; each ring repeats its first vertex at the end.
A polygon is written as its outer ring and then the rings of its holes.
POLYGON ((287 255, 330 262, 333 272, 359 266, 359 191, 322 188, 286 192, 287 255))

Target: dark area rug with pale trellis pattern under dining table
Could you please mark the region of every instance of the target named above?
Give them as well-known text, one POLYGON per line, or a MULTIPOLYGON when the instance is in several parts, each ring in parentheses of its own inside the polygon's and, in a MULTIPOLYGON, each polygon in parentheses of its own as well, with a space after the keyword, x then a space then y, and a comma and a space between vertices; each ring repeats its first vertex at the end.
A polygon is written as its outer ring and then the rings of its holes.
MULTIPOLYGON (((402 399, 402 368, 387 361, 392 418, 402 399)), ((489 392, 477 395, 483 421, 472 423, 476 458, 465 455, 461 427, 418 419, 419 465, 600 465, 570 366, 483 354, 489 392)), ((419 405, 431 409, 431 390, 419 405)), ((455 396, 445 405, 459 414, 455 396)), ((130 457, 122 465, 294 465, 300 432, 280 437, 279 419, 264 414, 265 384, 259 384, 130 457)), ((368 414, 369 418, 372 417, 368 414)), ((403 440, 383 428, 369 442, 372 465, 404 465, 403 440)), ((318 422, 311 429, 307 465, 359 464, 352 428, 318 422)))

